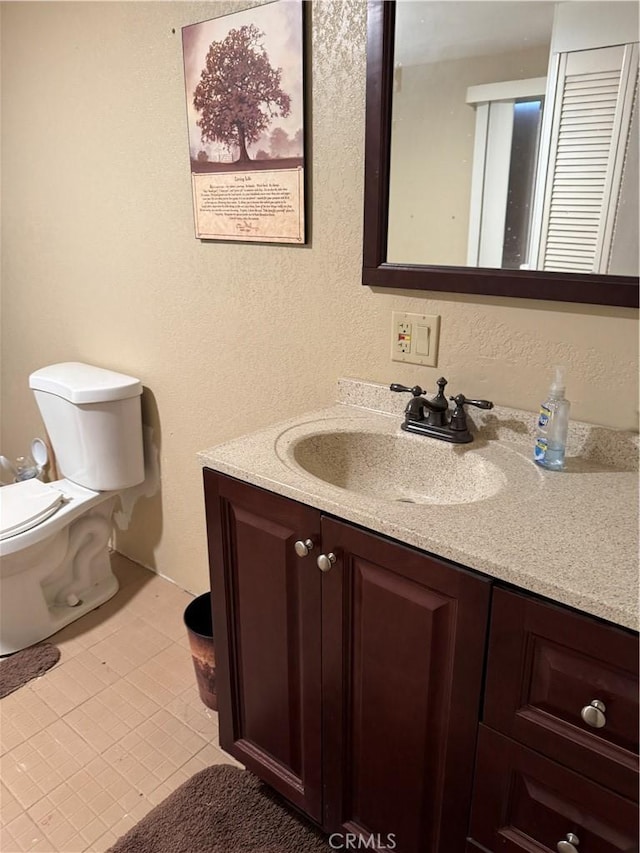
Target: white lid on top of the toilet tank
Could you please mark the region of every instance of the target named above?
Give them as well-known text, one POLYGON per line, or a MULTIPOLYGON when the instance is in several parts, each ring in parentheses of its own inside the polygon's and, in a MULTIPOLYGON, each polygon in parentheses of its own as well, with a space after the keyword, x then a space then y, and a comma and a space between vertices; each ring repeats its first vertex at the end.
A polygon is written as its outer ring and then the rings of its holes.
POLYGON ((142 394, 139 379, 79 361, 51 364, 36 370, 29 377, 29 387, 63 397, 71 403, 103 403, 142 394))

